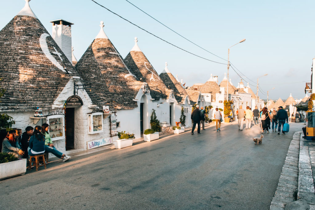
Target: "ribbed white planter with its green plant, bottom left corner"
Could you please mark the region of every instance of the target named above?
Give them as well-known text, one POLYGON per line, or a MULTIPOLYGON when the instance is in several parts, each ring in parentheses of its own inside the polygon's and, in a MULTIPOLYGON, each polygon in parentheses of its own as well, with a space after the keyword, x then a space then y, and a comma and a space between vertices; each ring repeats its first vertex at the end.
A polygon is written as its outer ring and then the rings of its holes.
POLYGON ((0 152, 0 180, 24 175, 26 172, 26 159, 16 158, 12 154, 0 152))

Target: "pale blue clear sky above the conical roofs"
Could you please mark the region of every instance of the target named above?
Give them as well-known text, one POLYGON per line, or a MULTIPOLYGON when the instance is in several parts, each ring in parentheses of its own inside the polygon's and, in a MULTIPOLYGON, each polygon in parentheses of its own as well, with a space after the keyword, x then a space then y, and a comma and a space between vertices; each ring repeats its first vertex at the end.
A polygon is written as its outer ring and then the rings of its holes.
MULTIPOLYGON (((205 83, 212 74, 219 84, 227 72, 234 86, 244 80, 256 93, 259 78, 259 97, 277 100, 290 94, 305 96, 305 83, 311 80, 312 58, 315 57, 313 27, 315 1, 209 1, 186 0, 128 0, 172 30, 219 58, 178 36, 150 18, 126 0, 95 0, 114 13, 128 19, 152 34, 200 57, 180 50, 130 24, 91 0, 43 1, 32 0, 30 7, 49 33, 55 19, 72 25, 72 46, 79 60, 100 30, 104 31, 123 58, 134 46, 146 55, 160 74, 168 63, 169 71, 186 82, 186 86, 205 83), (225 59, 225 60, 224 60, 225 59), (238 74, 237 74, 238 73, 238 74), (266 76, 262 76, 268 74, 266 76), (262 77, 261 77, 262 76, 262 77), (274 89, 272 89, 274 88, 274 89)), ((24 0, 0 2, 0 30, 24 7, 24 0)), ((308 95, 310 95, 308 93, 308 95)))

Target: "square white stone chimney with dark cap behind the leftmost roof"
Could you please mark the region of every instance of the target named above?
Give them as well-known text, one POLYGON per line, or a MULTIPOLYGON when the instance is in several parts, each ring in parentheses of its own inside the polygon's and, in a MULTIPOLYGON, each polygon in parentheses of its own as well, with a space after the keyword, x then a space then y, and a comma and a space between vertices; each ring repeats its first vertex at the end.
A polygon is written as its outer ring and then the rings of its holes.
POLYGON ((53 23, 53 39, 66 55, 69 62, 72 63, 71 25, 73 25, 73 23, 63 19, 52 20, 50 22, 53 23))

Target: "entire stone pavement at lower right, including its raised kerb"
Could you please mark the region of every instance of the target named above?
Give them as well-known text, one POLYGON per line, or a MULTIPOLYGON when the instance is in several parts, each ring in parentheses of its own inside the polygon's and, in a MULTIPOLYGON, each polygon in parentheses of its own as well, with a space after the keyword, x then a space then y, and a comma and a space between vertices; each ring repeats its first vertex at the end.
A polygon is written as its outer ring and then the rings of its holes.
POLYGON ((307 141, 295 132, 272 198, 271 210, 315 210, 315 142, 307 141))

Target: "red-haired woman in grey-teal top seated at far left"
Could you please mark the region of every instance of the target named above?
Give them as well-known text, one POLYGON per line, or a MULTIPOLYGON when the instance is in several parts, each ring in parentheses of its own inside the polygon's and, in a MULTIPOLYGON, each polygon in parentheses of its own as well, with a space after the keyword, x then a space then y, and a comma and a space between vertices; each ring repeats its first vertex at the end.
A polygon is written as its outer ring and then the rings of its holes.
POLYGON ((3 140, 1 152, 13 154, 17 158, 23 157, 24 152, 21 150, 19 142, 15 140, 15 130, 10 130, 3 140))

